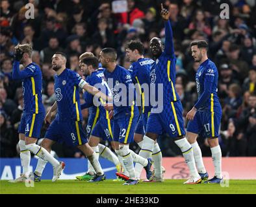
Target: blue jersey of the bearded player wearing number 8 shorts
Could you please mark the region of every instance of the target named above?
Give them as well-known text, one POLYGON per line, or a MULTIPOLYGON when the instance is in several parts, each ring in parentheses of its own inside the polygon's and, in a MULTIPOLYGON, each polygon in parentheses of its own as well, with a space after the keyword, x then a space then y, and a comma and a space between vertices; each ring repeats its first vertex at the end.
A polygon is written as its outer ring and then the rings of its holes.
POLYGON ((81 76, 70 69, 65 69, 59 76, 55 75, 57 116, 60 120, 83 120, 79 97, 79 83, 81 80, 81 76))

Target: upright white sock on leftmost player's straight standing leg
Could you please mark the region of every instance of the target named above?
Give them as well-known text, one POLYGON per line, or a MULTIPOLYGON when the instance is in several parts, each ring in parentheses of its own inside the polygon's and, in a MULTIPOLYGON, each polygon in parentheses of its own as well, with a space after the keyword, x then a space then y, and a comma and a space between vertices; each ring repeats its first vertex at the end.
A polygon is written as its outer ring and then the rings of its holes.
POLYGON ((29 164, 31 163, 31 152, 27 149, 24 140, 19 140, 19 150, 22 173, 25 175, 25 173, 29 171, 29 164))

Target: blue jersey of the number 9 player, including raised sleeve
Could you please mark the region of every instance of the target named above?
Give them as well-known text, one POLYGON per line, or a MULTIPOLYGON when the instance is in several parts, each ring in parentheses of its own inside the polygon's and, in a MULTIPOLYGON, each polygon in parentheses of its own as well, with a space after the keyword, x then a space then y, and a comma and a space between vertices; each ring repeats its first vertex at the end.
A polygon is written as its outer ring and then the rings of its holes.
POLYGON ((163 85, 163 102, 170 103, 179 100, 179 95, 175 90, 175 64, 176 57, 173 48, 172 27, 170 21, 164 22, 165 44, 164 51, 152 64, 150 71, 151 83, 156 84, 156 96, 158 97, 158 84, 163 85))

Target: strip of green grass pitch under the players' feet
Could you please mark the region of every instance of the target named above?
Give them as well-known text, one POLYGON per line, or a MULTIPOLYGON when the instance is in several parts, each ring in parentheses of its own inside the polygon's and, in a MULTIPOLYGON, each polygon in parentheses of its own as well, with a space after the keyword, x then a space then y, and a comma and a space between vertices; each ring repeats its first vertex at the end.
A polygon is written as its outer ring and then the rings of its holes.
POLYGON ((10 183, 7 180, 0 181, 0 193, 55 193, 55 194, 190 194, 190 193, 239 193, 255 194, 256 180, 229 180, 228 187, 220 184, 183 184, 185 180, 164 180, 162 183, 140 182, 136 186, 123 186, 120 181, 105 180, 103 182, 89 183, 76 180, 42 180, 35 182, 34 188, 27 188, 24 183, 10 183))

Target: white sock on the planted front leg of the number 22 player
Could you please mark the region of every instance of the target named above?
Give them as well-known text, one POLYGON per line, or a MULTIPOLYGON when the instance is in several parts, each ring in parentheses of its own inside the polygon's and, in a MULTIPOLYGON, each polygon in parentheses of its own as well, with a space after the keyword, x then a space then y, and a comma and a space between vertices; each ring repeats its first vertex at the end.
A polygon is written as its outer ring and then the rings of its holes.
POLYGON ((129 145, 125 145, 122 149, 117 150, 118 155, 123 157, 123 164, 129 173, 129 179, 136 180, 135 170, 133 166, 133 156, 129 151, 129 145))

